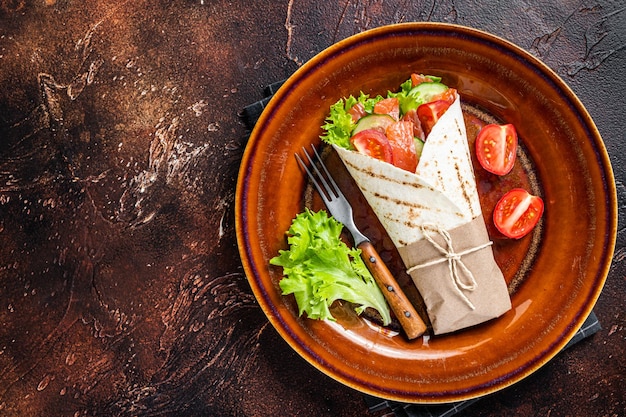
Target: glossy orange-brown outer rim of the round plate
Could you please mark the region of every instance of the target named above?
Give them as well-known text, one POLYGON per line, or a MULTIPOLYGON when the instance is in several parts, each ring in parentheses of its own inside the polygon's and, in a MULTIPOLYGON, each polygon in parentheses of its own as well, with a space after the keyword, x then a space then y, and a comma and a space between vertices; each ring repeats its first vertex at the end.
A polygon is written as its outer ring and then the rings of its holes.
POLYGON ((259 302, 261 309, 264 314, 268 317, 269 321, 272 323, 274 328, 278 331, 280 336, 294 349, 301 357, 303 357, 307 362, 313 365, 315 368, 322 371, 327 376, 332 377, 333 379, 340 381, 344 385, 352 387, 358 391, 371 394, 378 397, 383 397, 395 401, 403 401, 409 403, 420 403, 420 404, 437 404, 437 403, 447 403, 450 401, 458 401, 458 400, 466 400, 471 398, 482 397, 484 395, 493 393, 495 391, 499 391, 503 388, 506 388, 512 384, 519 382, 520 380, 526 378, 527 376, 534 373, 536 370, 541 368, 547 362, 549 362, 553 357, 555 357, 562 348, 571 340, 574 334, 578 331, 578 328, 587 316, 593 310, 593 306, 597 302, 599 298, 604 283, 607 279, 608 272, 610 270, 610 259, 614 252, 615 243, 616 243, 616 235, 617 235, 617 195, 615 189, 615 179, 613 176, 613 169, 611 167, 611 162, 608 156, 608 152, 604 145, 604 142, 601 138, 601 135, 593 122, 590 114, 580 101, 580 99, 576 96, 576 94, 571 90, 571 88, 560 78, 560 76, 549 68, 546 64, 544 64, 541 60, 534 57, 528 51, 523 48, 515 45, 514 43, 505 40, 497 35, 490 34, 488 32, 482 31, 480 29, 470 28, 467 26, 461 26, 458 24, 451 23, 439 23, 439 22, 410 22, 410 23, 398 23, 392 25, 380 26, 377 28, 369 29, 367 31, 352 35, 348 38, 340 40, 328 48, 324 49, 320 53, 316 54, 309 61, 304 63, 300 68, 298 68, 277 90, 277 92, 273 95, 272 99, 269 101, 268 105, 264 109, 263 113, 259 117, 257 123, 255 124, 254 129, 250 135, 250 141, 248 142, 246 149, 244 151, 240 169, 239 176, 237 179, 237 187, 235 193, 235 223, 236 223, 236 235, 237 235, 237 245, 239 247, 239 252, 244 268, 244 272, 246 274, 246 278, 250 283, 251 289, 259 302), (260 282, 257 281, 256 277, 258 276, 258 271, 256 270, 256 266, 254 262, 251 261, 249 256, 249 248, 247 247, 247 229, 246 229, 246 219, 243 217, 244 207, 246 206, 246 201, 244 201, 244 190, 246 189, 247 182, 249 178, 246 176, 246 171, 248 170, 248 164, 251 160, 255 147, 256 141, 255 137, 260 131, 259 126, 262 126, 273 117, 273 111, 275 108, 279 107, 280 102, 284 98, 286 94, 289 94, 289 91, 297 85, 297 83, 305 77, 310 71, 314 71, 318 66, 322 65, 324 61, 332 58, 335 54, 340 51, 348 48, 350 46, 354 46, 354 44, 359 44, 361 42, 366 42, 368 39, 376 38, 382 34, 389 34, 394 32, 424 32, 424 31, 432 31, 436 32, 438 35, 449 35, 449 36, 465 36, 471 38, 479 38, 483 42, 487 42, 493 44, 494 46, 498 46, 499 48, 503 48, 508 50, 511 54, 515 54, 517 57, 524 58, 529 61, 529 66, 533 67, 535 70, 540 70, 542 74, 549 79, 549 82, 553 85, 553 87, 557 88, 559 91, 562 91, 567 94, 566 99, 571 102, 572 106, 575 107, 578 117, 582 117, 584 120, 581 122, 582 125, 585 126, 586 129, 590 129, 592 133, 590 135, 590 139, 593 139, 594 149, 596 150, 596 155, 598 159, 598 164, 600 165, 601 172, 604 178, 604 189, 605 195, 607 197, 606 201, 606 210, 607 210, 607 227, 610 228, 611 233, 607 236, 605 241, 605 249, 603 253, 607 254, 606 261, 602 264, 602 267, 599 268, 596 281, 597 285, 595 287, 595 291, 589 294, 588 300, 586 303, 586 308, 583 308, 579 311, 577 315, 577 319, 574 320, 573 323, 570 323, 568 326, 568 331, 565 334, 562 334, 561 337, 553 343, 550 351, 547 354, 535 356, 533 361, 529 363, 524 363, 524 367, 522 369, 517 369, 515 375, 507 376, 505 381, 501 381, 492 386, 483 386, 481 389, 476 390, 476 386, 472 387, 473 392, 469 393, 458 393, 458 394, 446 394, 441 398, 435 398, 430 396, 428 398, 415 398, 408 397, 405 393, 392 393, 392 392, 381 392, 379 390, 374 390, 369 388, 371 384, 363 384, 360 385, 355 383, 354 379, 346 378, 341 374, 337 374, 336 372, 330 372, 329 368, 330 364, 328 363, 320 363, 320 358, 315 355, 315 352, 311 349, 307 349, 303 340, 297 336, 294 332, 290 331, 289 326, 286 325, 285 321, 280 317, 279 314, 275 314, 276 309, 275 306, 272 306, 268 303, 268 295, 267 291, 260 282))

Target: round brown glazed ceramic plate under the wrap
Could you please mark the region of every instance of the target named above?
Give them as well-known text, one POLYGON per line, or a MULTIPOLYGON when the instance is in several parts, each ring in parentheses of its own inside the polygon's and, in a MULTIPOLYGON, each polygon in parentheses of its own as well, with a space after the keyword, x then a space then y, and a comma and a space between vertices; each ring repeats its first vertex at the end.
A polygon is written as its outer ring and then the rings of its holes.
MULTIPOLYGON (((340 173, 338 161, 331 154, 327 163, 340 173)), ((414 289, 394 248, 346 175, 344 171, 340 182, 357 206, 357 223, 411 294, 414 289)), ((236 193, 243 266, 279 334, 329 377, 374 396, 413 403, 479 397, 525 378, 553 358, 600 295, 616 224, 609 158, 575 94, 519 47, 478 30, 440 23, 363 32, 299 68, 253 130, 236 193), (269 264, 286 249, 285 232, 308 201, 307 181, 294 153, 319 145, 320 126, 339 98, 359 91, 395 91, 412 72, 441 76, 459 91, 470 140, 485 120, 513 123, 518 130, 515 172, 498 179, 476 168, 488 224, 494 196, 507 187, 531 188, 545 202, 540 226, 521 240, 503 239, 489 228, 513 308, 470 329, 412 341, 381 331, 341 307, 336 322, 298 317, 294 299, 281 295, 281 268, 269 264)))

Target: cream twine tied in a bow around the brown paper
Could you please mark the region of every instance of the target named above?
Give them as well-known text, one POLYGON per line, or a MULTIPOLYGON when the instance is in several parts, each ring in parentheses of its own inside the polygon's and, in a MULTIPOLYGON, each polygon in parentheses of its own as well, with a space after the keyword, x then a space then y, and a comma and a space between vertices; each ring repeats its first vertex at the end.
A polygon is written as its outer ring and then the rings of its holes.
POLYGON ((437 249, 439 253, 441 253, 442 257, 433 259, 432 261, 425 262, 423 264, 415 265, 409 268, 407 270, 407 273, 410 274, 417 269, 427 268, 429 266, 448 262, 448 269, 450 270, 450 279, 452 280, 453 287, 456 289, 457 293, 463 299, 463 301, 465 301, 465 303, 472 310, 475 310, 476 307, 474 307, 474 304, 469 300, 469 298, 467 298, 462 290, 474 291, 476 287, 478 287, 478 283, 476 282, 472 271, 470 271, 469 268, 465 266, 465 264, 461 260, 461 257, 491 246, 493 242, 489 241, 483 243, 482 245, 478 245, 476 247, 456 253, 454 251, 454 247, 452 246, 452 237, 447 230, 442 229, 441 227, 431 223, 422 224, 420 226, 420 229, 424 234, 424 238, 428 242, 430 242, 430 244, 433 245, 433 247, 437 249), (438 233, 443 238, 447 249, 434 240, 432 234, 430 233, 431 231, 438 233), (460 272, 462 272, 463 274, 461 274, 460 272), (461 275, 464 275, 466 279, 464 280, 461 275))

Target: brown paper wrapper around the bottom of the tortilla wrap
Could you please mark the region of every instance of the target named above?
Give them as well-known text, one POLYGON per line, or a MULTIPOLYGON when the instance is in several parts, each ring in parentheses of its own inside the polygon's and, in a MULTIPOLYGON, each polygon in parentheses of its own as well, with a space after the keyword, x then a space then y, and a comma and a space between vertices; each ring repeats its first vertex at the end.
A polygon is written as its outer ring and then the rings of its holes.
MULTIPOLYGON (((436 335, 484 323, 511 309, 506 281, 495 262, 493 250, 491 246, 481 248, 489 242, 483 217, 476 217, 447 232, 454 253, 470 253, 462 255, 456 261, 449 261, 445 254, 426 239, 398 248, 415 286, 424 299, 436 335), (476 248, 480 249, 473 250, 476 248), (411 271, 416 265, 430 264, 438 260, 441 262, 411 271), (471 271, 475 281, 472 290, 459 288, 455 284, 451 276, 450 262, 457 262, 457 273, 464 283, 469 283, 471 277, 458 262, 462 262, 471 271)), ((451 251, 440 233, 429 230, 429 236, 440 247, 451 251)))

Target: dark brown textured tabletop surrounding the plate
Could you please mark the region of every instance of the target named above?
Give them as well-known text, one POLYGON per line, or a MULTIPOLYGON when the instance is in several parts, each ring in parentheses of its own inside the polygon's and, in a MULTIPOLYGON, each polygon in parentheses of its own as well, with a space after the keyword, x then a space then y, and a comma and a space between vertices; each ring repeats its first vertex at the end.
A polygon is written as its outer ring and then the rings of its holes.
POLYGON ((252 296, 238 113, 334 42, 408 21, 541 58, 594 118, 619 197, 603 330, 462 415, 625 416, 623 0, 0 0, 0 415, 369 415, 252 296))

